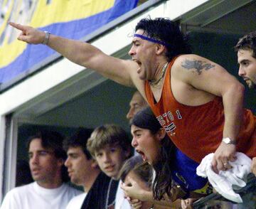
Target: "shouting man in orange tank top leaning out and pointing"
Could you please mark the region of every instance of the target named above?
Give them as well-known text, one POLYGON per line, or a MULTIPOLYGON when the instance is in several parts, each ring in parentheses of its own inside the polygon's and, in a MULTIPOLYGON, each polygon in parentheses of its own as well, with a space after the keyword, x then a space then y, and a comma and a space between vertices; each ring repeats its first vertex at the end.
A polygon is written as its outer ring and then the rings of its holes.
POLYGON ((236 151, 256 156, 256 118, 242 109, 243 85, 217 63, 191 54, 178 24, 168 18, 137 23, 132 60, 30 26, 10 25, 21 30, 21 41, 46 43, 74 63, 137 87, 178 149, 198 163, 214 152, 216 173, 230 168, 236 151))

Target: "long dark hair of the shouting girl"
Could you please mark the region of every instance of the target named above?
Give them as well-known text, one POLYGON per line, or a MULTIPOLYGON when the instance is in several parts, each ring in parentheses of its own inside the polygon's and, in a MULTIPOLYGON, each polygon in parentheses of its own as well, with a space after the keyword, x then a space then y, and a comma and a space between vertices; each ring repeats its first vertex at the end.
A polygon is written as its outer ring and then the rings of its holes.
MULTIPOLYGON (((156 134, 161 129, 159 121, 149 107, 138 112, 132 119, 131 125, 149 129, 151 134, 156 134)), ((161 149, 158 157, 152 165, 156 172, 152 186, 154 199, 156 200, 161 200, 165 193, 171 197, 171 188, 173 187, 171 161, 174 159, 174 149, 175 146, 171 139, 167 135, 164 136, 164 139, 161 139, 161 149)))

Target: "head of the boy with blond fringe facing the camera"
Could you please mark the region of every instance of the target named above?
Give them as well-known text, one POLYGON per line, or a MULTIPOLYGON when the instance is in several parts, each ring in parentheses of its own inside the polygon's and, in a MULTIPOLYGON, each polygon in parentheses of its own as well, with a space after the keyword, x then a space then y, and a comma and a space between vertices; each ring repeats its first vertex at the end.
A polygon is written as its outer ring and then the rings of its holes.
POLYGON ((132 154, 129 137, 124 129, 114 124, 97 127, 87 141, 87 149, 100 169, 114 179, 118 178, 122 164, 132 154))

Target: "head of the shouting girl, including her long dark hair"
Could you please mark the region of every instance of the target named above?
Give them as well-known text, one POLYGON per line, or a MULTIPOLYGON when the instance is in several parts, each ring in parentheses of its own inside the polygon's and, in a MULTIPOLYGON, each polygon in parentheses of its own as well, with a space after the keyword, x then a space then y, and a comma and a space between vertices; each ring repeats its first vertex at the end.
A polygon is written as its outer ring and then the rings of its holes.
POLYGON ((156 171, 154 198, 160 200, 164 193, 171 195, 171 165, 175 146, 149 107, 135 114, 131 123, 132 146, 142 155, 144 161, 156 171))

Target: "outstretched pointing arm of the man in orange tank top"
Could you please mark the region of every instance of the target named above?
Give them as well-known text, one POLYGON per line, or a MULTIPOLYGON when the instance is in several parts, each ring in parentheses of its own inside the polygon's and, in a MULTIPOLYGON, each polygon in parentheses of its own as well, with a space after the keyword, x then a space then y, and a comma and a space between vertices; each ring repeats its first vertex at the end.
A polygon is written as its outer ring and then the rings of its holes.
MULTIPOLYGON (((23 26, 12 22, 9 24, 21 31, 21 34, 18 36, 20 41, 40 44, 46 38, 45 32, 31 26, 23 26)), ((89 43, 50 34, 47 45, 73 63, 85 66, 85 68, 91 68, 122 85, 134 87, 134 82, 142 82, 137 79, 137 63, 132 62, 132 60, 121 60, 106 55, 89 43)))

